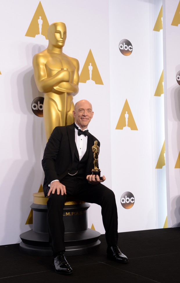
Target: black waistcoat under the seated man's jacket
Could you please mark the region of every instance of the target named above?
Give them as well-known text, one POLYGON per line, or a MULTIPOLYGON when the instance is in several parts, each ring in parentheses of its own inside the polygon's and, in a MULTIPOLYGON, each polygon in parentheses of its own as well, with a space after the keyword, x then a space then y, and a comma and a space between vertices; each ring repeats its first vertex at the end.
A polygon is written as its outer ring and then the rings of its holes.
POLYGON ((89 143, 88 143, 88 141, 87 141, 86 152, 85 152, 85 154, 84 154, 84 156, 82 157, 81 160, 79 160, 79 153, 78 153, 77 146, 75 144, 73 166, 72 166, 69 174, 75 174, 78 171, 78 173, 76 175, 74 175, 74 177, 84 179, 84 177, 86 177, 85 173, 86 173, 86 166, 87 166, 88 157, 89 157, 89 143))

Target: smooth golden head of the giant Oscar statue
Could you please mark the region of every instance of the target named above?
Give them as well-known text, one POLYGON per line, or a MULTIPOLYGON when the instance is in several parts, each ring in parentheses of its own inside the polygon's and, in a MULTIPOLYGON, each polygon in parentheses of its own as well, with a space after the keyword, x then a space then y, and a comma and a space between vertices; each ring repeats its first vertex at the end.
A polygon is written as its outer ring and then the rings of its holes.
POLYGON ((66 41, 66 25, 58 22, 50 26, 48 40, 56 48, 62 48, 66 41))

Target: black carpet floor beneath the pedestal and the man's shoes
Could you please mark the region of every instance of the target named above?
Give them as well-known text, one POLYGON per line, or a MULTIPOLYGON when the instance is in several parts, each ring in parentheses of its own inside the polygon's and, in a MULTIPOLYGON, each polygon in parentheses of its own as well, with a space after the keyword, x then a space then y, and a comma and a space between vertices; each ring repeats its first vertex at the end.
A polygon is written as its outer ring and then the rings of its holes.
POLYGON ((108 260, 105 235, 100 241, 97 252, 67 258, 71 275, 56 274, 51 257, 23 254, 19 244, 2 245, 0 283, 180 282, 180 228, 119 233, 118 244, 128 264, 108 260))

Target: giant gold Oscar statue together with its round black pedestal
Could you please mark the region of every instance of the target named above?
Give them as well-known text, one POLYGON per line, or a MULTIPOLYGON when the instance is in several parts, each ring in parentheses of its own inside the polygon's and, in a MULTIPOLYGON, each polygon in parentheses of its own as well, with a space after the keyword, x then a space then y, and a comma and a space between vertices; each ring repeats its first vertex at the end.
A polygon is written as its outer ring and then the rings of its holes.
MULTIPOLYGON (((56 126, 74 122, 73 96, 78 93, 79 62, 62 53, 66 40, 66 26, 57 22, 48 29, 48 48, 33 57, 34 76, 37 88, 44 95, 43 116, 46 138, 50 137, 56 126)), ((96 147, 96 145, 94 145, 96 147)), ((98 151, 95 149, 95 155, 98 151)), ((96 161, 95 161, 96 162, 96 161)), ((95 166, 97 168, 97 165, 95 166)), ((100 174, 98 168, 95 175, 100 174)), ((33 194, 33 229, 20 235, 22 252, 48 256, 52 254, 48 243, 47 197, 44 193, 33 194)), ((64 241, 66 255, 78 255, 96 251, 100 245, 100 233, 88 228, 88 203, 67 199, 63 210, 65 226, 64 241)))

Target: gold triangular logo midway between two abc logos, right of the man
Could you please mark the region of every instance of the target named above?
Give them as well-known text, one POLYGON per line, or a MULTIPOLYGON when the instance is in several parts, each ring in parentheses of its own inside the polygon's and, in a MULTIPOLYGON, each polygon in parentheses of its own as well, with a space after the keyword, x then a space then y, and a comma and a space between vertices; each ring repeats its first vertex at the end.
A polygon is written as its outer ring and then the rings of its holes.
POLYGON ((134 117, 132 115, 131 109, 129 107, 129 104, 127 102, 127 99, 125 101, 125 104, 123 106, 123 110, 120 114, 118 123, 116 125, 116 130, 135 130, 138 131, 138 128, 136 126, 136 123, 134 121, 134 117))

